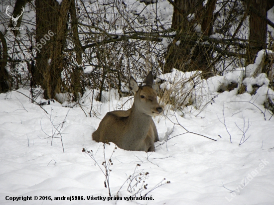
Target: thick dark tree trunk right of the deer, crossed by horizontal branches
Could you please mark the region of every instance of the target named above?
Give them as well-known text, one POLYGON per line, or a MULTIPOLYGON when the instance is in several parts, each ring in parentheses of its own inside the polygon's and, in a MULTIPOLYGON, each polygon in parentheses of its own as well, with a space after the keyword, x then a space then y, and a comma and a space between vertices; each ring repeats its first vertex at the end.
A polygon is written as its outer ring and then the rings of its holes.
POLYGON ((177 33, 168 47, 164 73, 170 72, 172 68, 184 72, 202 70, 204 77, 207 78, 208 74, 212 73, 209 65, 210 52, 204 47, 194 47, 193 44, 180 38, 180 35, 182 33, 197 35, 195 23, 201 25, 203 35, 211 35, 216 0, 208 0, 205 6, 202 0, 175 0, 174 3, 171 28, 177 33), (189 14, 195 14, 195 18, 189 21, 187 19, 189 14), (181 42, 177 46, 175 43, 178 40, 181 42))

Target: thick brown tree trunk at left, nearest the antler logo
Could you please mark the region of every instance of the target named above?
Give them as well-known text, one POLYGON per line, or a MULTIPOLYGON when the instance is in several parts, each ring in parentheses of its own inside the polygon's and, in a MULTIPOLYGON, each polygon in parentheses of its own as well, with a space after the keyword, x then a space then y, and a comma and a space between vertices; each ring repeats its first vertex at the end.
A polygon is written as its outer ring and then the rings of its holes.
POLYGON ((44 89, 45 99, 54 99, 61 92, 61 72, 63 69, 63 49, 67 35, 68 11, 70 0, 63 0, 61 5, 56 0, 36 0, 36 43, 40 43, 48 31, 54 36, 41 52, 37 52, 34 82, 44 89))

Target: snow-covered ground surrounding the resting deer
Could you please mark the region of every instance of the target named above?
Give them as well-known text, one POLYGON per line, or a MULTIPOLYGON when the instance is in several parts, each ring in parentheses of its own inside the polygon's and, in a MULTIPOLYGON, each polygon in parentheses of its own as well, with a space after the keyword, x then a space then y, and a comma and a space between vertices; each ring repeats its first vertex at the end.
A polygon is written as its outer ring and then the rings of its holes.
MULTIPOLYGON (((18 91, 29 96, 27 90, 18 91)), ((122 200, 108 201, 105 177, 82 149, 93 150, 104 169, 103 144, 93 141, 91 134, 107 111, 120 107, 128 99, 93 101, 94 110, 100 114, 86 117, 77 106, 69 108, 50 102, 43 105, 49 113, 46 114, 20 93, 0 94, 0 204, 274 205, 274 117, 263 105, 246 103, 253 102, 253 98, 248 93, 237 96, 237 90, 233 90, 218 94, 203 110, 185 108, 184 115, 166 107, 166 116, 154 118, 160 142, 153 153, 120 148, 113 153, 115 145, 106 145, 106 161, 113 154, 109 176, 112 196, 133 175, 137 164, 140 166, 136 172, 149 173, 142 196, 164 178, 163 183, 171 182, 147 195, 153 200, 127 201, 124 197, 132 196, 127 192, 128 181, 120 190, 122 200), (60 138, 47 138, 46 134, 52 136, 56 132, 51 122, 62 133, 64 153, 60 138), (217 141, 183 134, 186 132, 183 127, 217 141), (241 130, 247 130, 244 143, 241 130), (164 142, 167 137, 169 140, 164 142), (32 201, 11 201, 12 197, 26 196, 32 197, 32 201), (40 196, 50 196, 52 201, 39 200, 40 196), (63 196, 83 196, 85 200, 54 200, 63 196), (105 201, 87 198, 100 196, 106 197, 105 201)), ((81 103, 90 106, 87 99, 81 103)), ((124 108, 131 103, 128 101, 124 108)))

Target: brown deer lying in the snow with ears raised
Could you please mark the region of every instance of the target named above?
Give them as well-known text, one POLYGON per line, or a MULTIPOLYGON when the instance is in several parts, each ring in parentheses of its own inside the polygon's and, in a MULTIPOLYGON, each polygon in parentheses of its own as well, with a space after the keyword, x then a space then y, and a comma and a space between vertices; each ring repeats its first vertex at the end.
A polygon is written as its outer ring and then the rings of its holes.
POLYGON ((93 132, 92 139, 96 142, 113 142, 124 150, 154 152, 154 142, 159 141, 159 137, 152 116, 159 115, 163 108, 157 102, 153 81, 151 71, 145 78, 144 86, 138 86, 131 76, 129 88, 134 93, 132 107, 107 112, 93 132))

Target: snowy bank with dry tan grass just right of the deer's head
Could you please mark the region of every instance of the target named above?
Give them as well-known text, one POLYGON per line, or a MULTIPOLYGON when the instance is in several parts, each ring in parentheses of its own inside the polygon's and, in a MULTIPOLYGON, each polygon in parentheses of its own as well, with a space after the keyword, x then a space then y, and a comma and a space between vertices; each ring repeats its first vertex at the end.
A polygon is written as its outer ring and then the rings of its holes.
MULTIPOLYGON (((225 88, 231 83, 240 84, 243 79, 243 68, 235 69, 224 74, 214 76, 207 80, 201 79, 201 71, 181 72, 172 69, 171 73, 159 75, 159 79, 165 82, 160 85, 162 89, 171 90, 171 97, 178 104, 191 102, 197 107, 206 106, 217 96, 217 91, 225 88), (195 88, 195 89, 194 89, 195 88)), ((255 82, 256 83, 256 82, 255 82)), ((176 106, 175 106, 176 107, 176 106)))

